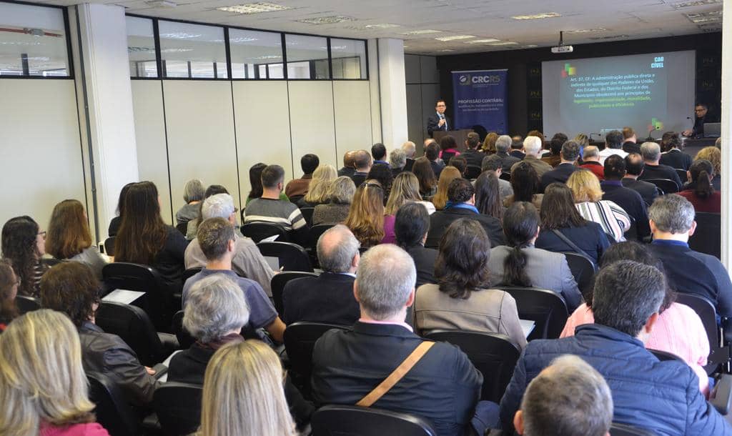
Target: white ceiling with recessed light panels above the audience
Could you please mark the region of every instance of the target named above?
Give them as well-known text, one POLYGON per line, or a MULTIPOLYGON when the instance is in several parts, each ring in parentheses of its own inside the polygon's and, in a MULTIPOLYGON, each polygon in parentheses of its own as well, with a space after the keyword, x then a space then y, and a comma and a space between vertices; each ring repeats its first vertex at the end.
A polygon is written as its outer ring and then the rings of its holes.
MULTIPOLYGON (((721 20, 698 25, 684 16, 722 10, 722 4, 676 9, 672 4, 690 0, 272 0, 292 10, 240 15, 217 7, 253 3, 257 0, 173 0, 175 8, 151 7, 146 0, 89 0, 119 4, 128 13, 160 18, 225 24, 254 29, 292 31, 332 37, 399 38, 406 53, 456 54, 510 50, 526 46, 556 45, 559 31, 598 29, 564 34, 564 42, 581 44, 606 40, 671 37, 703 31, 719 31, 721 20), (559 12, 559 18, 514 20, 515 15, 559 12), (343 15, 354 20, 332 24, 299 23, 304 18, 343 15), (389 29, 365 28, 393 24, 389 29), (408 31, 433 29, 438 34, 409 36, 408 31), (494 38, 515 45, 468 44, 468 40, 441 42, 436 37, 472 35, 474 40, 494 38), (598 40, 599 38, 599 40, 598 40), (452 51, 451 51, 452 50, 452 51)), ((37 3, 68 6, 79 0, 40 0, 37 3)))

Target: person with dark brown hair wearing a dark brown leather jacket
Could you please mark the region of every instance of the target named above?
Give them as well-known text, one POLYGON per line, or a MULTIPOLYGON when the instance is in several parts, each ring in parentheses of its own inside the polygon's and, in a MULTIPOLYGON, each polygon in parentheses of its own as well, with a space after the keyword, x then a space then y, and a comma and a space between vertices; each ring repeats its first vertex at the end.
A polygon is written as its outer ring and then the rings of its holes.
POLYGON ((41 280, 41 306, 71 318, 81 339, 85 371, 111 377, 130 404, 149 405, 157 387, 157 381, 151 375, 154 371, 140 364, 135 352, 122 338, 105 333, 94 323, 100 303, 99 289, 100 282, 88 266, 78 262, 61 263, 48 270, 41 280))

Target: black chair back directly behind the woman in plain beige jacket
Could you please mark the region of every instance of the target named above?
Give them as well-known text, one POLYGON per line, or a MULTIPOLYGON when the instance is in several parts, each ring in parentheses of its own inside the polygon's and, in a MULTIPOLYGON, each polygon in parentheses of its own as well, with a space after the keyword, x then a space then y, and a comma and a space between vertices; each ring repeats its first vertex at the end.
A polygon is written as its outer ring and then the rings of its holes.
POLYGON ((521 353, 506 335, 479 331, 433 330, 424 337, 460 347, 483 375, 480 399, 501 402, 521 353))

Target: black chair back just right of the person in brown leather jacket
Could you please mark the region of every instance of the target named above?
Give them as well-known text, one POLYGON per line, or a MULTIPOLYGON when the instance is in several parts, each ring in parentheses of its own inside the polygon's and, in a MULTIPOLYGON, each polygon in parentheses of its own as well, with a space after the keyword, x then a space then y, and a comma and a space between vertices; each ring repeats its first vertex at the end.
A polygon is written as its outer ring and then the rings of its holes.
POLYGON ((164 361, 179 347, 176 337, 157 333, 145 311, 130 304, 102 300, 95 323, 106 333, 121 337, 146 367, 164 361))

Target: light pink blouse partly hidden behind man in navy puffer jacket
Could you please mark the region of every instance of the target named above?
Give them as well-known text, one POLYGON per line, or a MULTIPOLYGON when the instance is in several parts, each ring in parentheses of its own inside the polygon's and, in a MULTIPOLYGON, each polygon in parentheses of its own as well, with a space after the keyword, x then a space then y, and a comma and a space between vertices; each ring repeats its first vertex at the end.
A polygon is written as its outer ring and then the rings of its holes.
MULTIPOLYGON (((592 309, 583 303, 567 319, 559 337, 575 334, 575 327, 594 323, 592 309)), ((684 304, 673 303, 658 317, 653 330, 646 338, 646 348, 661 350, 682 358, 699 377, 699 390, 709 391, 709 376, 702 368, 709 357, 709 338, 699 315, 684 304)))

